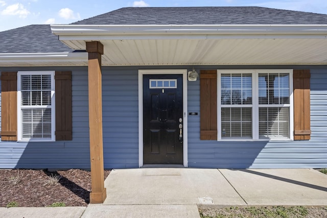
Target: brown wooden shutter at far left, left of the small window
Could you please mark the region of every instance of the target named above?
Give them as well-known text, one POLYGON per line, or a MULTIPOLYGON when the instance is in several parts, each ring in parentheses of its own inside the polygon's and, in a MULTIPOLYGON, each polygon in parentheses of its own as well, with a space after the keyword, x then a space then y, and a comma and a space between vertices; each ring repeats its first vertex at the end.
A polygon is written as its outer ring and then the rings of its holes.
POLYGON ((1 140, 17 141, 17 72, 1 72, 1 140))

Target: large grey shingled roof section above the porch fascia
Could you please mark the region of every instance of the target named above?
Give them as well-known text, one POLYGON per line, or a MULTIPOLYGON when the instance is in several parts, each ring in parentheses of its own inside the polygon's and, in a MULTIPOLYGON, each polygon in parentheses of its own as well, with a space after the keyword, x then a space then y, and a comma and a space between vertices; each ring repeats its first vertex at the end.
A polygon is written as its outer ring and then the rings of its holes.
POLYGON ((74 25, 321 25, 326 14, 263 7, 121 8, 74 25))

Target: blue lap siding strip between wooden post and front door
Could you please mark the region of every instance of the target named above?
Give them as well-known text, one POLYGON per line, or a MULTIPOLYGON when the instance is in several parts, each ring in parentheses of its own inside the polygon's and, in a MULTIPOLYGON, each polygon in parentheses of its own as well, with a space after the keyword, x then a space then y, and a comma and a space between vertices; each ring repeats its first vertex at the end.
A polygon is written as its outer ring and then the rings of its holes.
POLYGON ((137 69, 103 69, 105 168, 138 167, 137 69))

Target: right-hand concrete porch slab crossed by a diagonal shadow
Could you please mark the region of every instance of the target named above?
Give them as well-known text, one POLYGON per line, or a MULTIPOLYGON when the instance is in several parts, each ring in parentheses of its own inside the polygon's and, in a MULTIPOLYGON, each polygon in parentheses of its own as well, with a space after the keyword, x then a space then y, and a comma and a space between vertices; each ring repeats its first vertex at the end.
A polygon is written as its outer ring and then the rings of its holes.
POLYGON ((327 175, 314 169, 219 169, 249 205, 327 205, 327 175))

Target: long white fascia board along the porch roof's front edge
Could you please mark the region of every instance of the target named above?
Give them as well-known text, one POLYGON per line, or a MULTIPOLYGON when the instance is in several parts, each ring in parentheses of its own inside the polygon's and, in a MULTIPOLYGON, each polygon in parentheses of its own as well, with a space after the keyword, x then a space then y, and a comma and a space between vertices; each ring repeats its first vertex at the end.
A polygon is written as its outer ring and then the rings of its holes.
POLYGON ((51 25, 58 36, 327 35, 327 25, 51 25))

